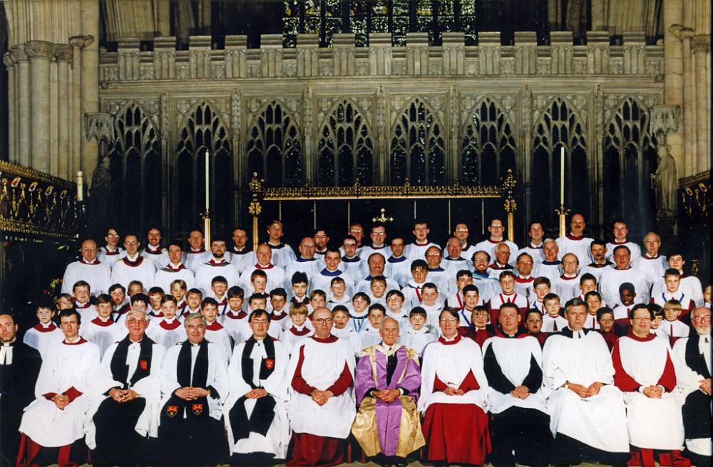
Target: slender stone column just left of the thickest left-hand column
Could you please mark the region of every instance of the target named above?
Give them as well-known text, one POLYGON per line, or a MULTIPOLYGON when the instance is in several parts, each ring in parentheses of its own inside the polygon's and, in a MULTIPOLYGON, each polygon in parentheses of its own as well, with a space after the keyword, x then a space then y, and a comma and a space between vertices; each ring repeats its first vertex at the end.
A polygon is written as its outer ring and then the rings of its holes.
POLYGON ((15 61, 15 85, 17 89, 17 157, 16 163, 30 167, 30 62, 24 44, 14 46, 10 53, 15 61))

